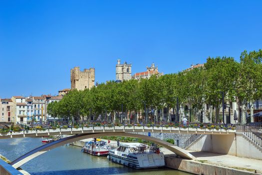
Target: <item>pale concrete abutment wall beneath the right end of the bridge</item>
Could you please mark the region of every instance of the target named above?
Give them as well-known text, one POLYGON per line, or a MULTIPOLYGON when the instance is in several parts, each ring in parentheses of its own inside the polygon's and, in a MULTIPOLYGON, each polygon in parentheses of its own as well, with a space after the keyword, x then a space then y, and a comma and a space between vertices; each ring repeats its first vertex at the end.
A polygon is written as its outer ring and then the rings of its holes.
POLYGON ((262 159, 262 149, 250 142, 243 134, 204 135, 188 150, 224 153, 240 157, 262 159))

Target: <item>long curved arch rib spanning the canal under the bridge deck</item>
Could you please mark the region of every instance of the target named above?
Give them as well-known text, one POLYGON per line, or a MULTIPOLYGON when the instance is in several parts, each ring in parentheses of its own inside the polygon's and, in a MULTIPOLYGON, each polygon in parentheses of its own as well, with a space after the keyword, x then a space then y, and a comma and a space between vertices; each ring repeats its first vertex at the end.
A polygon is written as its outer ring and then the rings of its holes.
POLYGON ((186 150, 175 146, 172 143, 169 143, 167 141, 161 140, 159 138, 155 138, 155 137, 151 137, 151 136, 147 136, 147 135, 141 135, 141 134, 137 134, 137 133, 128 133, 128 132, 101 132, 101 133, 83 133, 83 134, 77 134, 77 135, 72 135, 69 137, 65 137, 65 138, 61 138, 59 140, 56 141, 52 141, 50 143, 44 144, 42 146, 39 146, 27 153, 25 153, 24 155, 18 157, 17 159, 13 160, 10 164, 15 167, 18 168, 19 166, 21 166, 22 164, 26 163, 27 161, 37 157, 38 155, 53 149, 55 147, 70 143, 70 142, 74 142, 77 140, 82 140, 85 138, 93 138, 93 137, 100 137, 100 136, 129 136, 129 137, 134 137, 134 138, 141 138, 144 140, 148 140, 148 141, 152 141, 154 143, 157 143, 169 150, 171 150, 172 152, 176 153, 177 155, 183 157, 183 158, 188 158, 188 159, 194 159, 195 157, 190 154, 189 152, 187 152, 186 150))

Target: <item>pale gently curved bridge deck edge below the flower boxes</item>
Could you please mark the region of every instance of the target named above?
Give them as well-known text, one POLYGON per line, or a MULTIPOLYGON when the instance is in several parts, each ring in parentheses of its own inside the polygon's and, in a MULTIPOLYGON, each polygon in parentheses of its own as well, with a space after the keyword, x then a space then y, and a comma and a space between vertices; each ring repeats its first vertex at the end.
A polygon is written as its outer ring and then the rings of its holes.
POLYGON ((34 137, 63 134, 101 133, 101 132, 169 132, 169 133, 196 133, 196 134, 235 134, 232 129, 208 129, 190 127, 165 127, 165 126, 90 126, 79 128, 56 128, 44 130, 21 130, 17 132, 0 133, 0 138, 34 137))

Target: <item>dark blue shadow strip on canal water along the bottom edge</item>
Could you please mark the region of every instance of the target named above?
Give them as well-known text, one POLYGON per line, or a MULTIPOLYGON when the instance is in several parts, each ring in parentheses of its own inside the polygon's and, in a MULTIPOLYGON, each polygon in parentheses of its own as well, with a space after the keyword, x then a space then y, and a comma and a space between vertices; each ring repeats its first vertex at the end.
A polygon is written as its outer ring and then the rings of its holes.
MULTIPOLYGON (((56 170, 56 171, 43 171, 43 172, 30 172, 31 175, 53 175, 53 174, 65 174, 65 175, 75 175, 75 174, 130 174, 135 173, 139 174, 139 172, 158 174, 158 171, 162 171, 163 169, 169 168, 157 168, 157 169, 132 169, 129 167, 100 167, 100 168, 88 168, 88 169, 72 169, 72 170, 56 170), (153 173, 152 173, 153 171, 153 173)), ((170 169, 171 170, 171 169, 170 169)), ((174 170, 176 171, 176 170, 174 170)), ((172 173, 174 174, 174 172, 172 173)))

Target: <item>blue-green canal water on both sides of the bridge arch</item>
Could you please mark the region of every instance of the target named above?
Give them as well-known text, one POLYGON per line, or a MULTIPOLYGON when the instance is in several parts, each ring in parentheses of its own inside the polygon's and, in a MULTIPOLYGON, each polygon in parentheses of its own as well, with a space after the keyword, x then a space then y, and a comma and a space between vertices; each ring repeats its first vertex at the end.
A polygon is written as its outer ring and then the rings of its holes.
MULTIPOLYGON (((0 154, 14 160, 43 143, 39 137, 0 139, 0 154)), ((22 169, 32 175, 54 174, 133 174, 133 175, 186 175, 189 173, 169 168, 135 170, 108 161, 106 157, 92 156, 81 151, 80 147, 63 145, 33 158, 22 169)))

